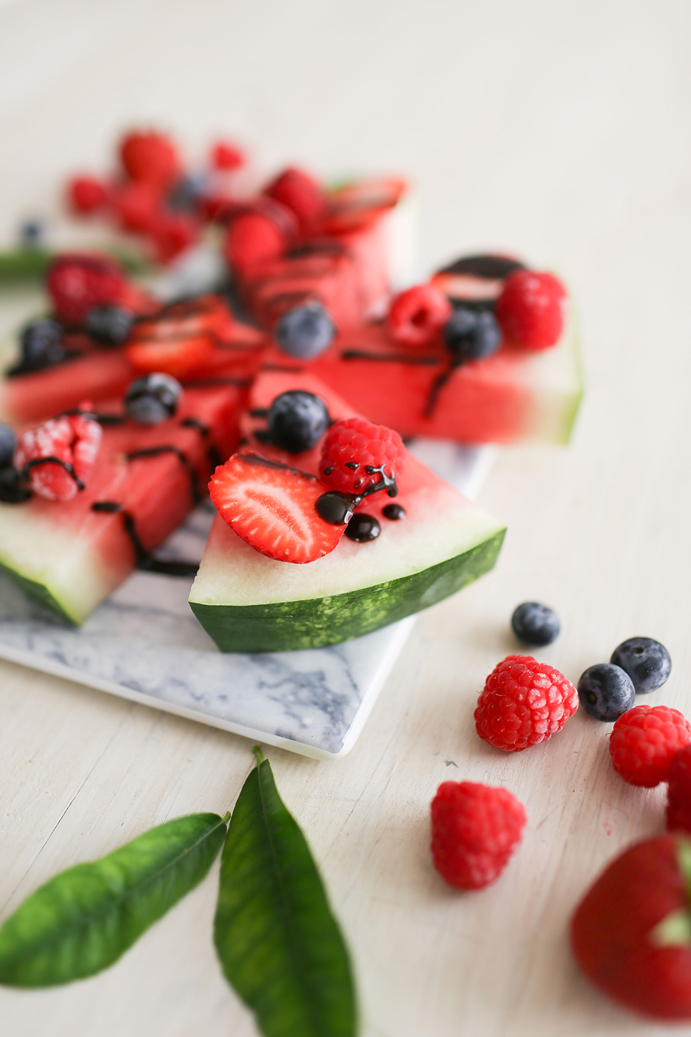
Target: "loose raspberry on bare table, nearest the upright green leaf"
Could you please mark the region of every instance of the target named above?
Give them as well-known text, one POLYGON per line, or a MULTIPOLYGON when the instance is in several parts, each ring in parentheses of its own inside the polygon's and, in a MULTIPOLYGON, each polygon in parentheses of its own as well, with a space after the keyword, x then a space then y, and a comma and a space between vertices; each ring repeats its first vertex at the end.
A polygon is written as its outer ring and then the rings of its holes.
POLYGON ((458 890, 480 890, 499 877, 521 840, 525 809, 506 788, 445 781, 432 800, 432 857, 458 890))

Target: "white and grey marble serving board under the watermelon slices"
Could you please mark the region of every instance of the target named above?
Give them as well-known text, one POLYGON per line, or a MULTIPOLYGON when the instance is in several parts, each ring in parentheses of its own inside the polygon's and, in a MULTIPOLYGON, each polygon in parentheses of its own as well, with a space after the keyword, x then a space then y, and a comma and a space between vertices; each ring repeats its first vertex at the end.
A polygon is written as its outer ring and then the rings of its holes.
MULTIPOLYGON (((466 497, 492 458, 488 447, 410 448, 466 497)), ((212 518, 206 501, 157 557, 200 559, 212 518)), ((345 755, 414 617, 327 648, 223 653, 188 605, 191 585, 137 571, 76 628, 0 577, 0 657, 306 756, 345 755)))

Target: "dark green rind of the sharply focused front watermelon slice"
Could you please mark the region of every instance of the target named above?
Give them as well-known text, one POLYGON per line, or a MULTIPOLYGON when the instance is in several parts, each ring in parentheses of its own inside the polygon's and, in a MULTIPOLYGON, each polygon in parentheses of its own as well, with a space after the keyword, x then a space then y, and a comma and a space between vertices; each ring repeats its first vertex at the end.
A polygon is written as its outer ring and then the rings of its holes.
POLYGON ((260 652, 323 648, 371 634, 428 609, 496 562, 505 529, 460 555, 409 576, 328 597, 268 605, 190 607, 221 651, 260 652))

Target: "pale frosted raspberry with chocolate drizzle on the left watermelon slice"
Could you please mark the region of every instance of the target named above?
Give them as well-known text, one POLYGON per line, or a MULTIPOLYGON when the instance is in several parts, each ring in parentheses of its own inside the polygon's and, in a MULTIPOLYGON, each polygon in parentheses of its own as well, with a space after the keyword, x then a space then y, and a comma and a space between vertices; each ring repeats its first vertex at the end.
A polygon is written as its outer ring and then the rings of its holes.
MULTIPOLYGON (((80 410, 90 408, 84 402, 80 410)), ((98 422, 83 414, 53 418, 20 437, 15 467, 34 494, 49 501, 69 501, 91 475, 100 436, 98 422)))

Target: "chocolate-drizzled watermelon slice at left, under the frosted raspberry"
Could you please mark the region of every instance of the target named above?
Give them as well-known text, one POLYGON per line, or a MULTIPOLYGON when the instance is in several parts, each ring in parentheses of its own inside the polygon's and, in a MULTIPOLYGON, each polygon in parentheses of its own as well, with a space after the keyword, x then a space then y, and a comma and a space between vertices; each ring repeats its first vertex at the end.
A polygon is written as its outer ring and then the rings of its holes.
POLYGON ((205 493, 214 465, 235 448, 243 395, 190 389, 169 421, 105 424, 93 474, 77 497, 0 504, 0 568, 63 618, 83 622, 205 493))

